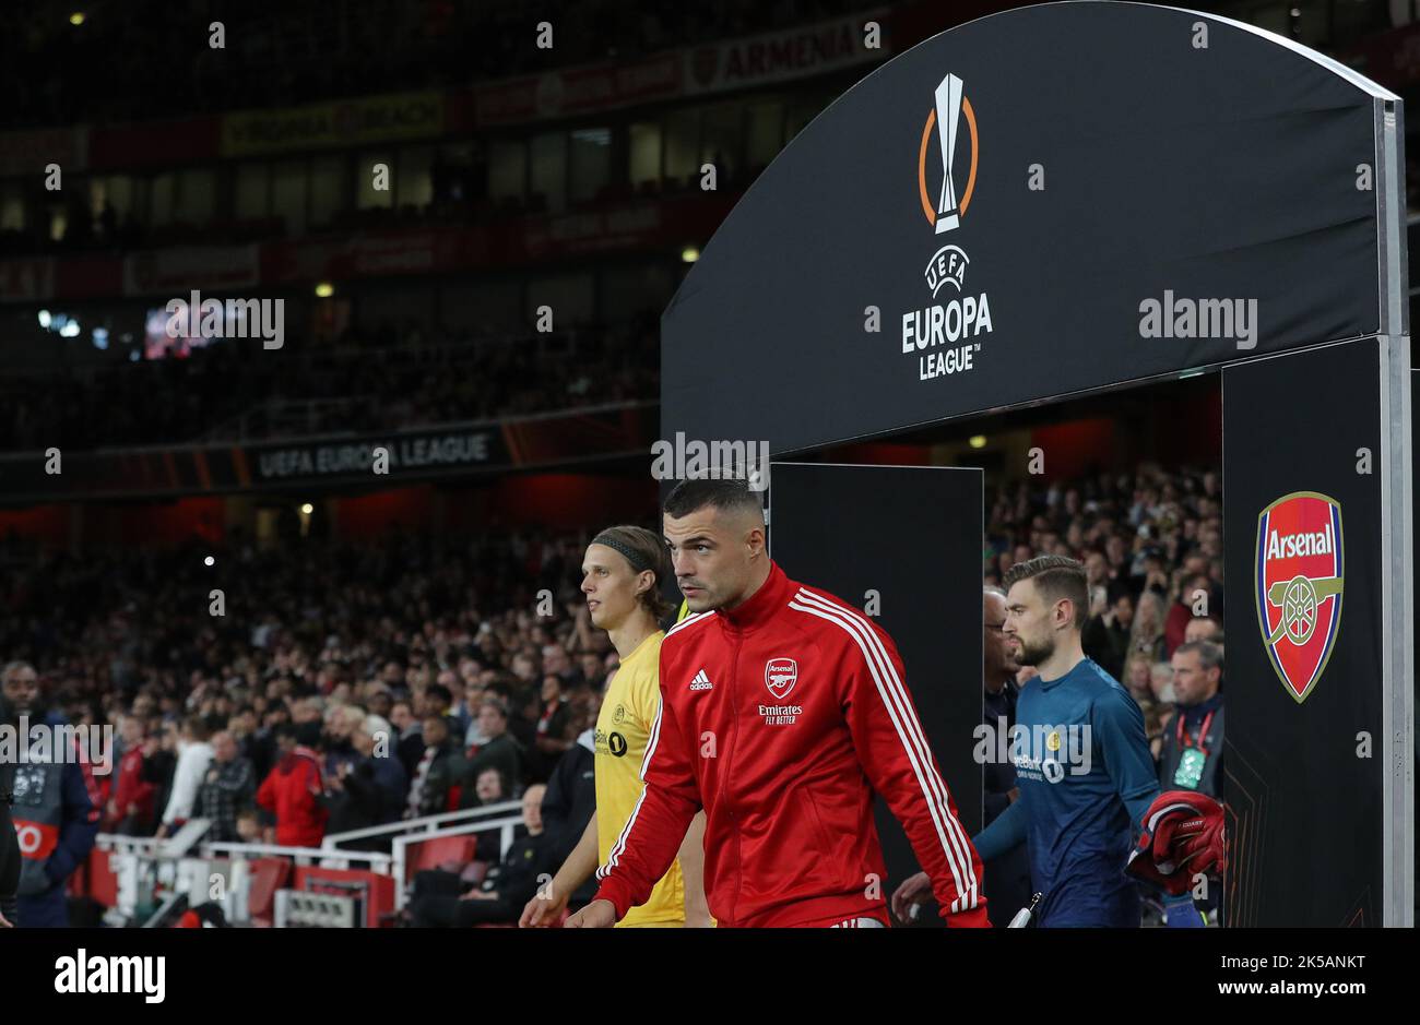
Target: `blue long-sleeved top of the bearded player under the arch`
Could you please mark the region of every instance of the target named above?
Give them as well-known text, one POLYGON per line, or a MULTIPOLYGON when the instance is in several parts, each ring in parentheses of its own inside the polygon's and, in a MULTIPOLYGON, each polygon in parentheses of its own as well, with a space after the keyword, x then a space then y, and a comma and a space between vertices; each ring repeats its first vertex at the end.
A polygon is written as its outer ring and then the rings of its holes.
POLYGON ((1042 927, 1137 927, 1139 893, 1125 863, 1135 823, 1159 795, 1139 706, 1083 659, 1058 680, 1021 689, 1010 741, 1021 795, 976 838, 981 859, 1028 845, 1042 927))

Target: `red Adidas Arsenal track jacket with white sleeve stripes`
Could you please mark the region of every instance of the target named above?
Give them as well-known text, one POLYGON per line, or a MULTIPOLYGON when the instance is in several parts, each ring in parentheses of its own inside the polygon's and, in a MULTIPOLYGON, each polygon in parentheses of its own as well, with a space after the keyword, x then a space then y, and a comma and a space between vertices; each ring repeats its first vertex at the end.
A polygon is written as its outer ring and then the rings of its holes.
POLYGON ((596 896, 618 919, 648 899, 704 808, 706 896, 720 926, 886 920, 876 791, 943 917, 988 924, 981 862, 892 637, 772 562, 737 609, 689 616, 666 633, 640 772, 642 798, 596 872, 596 896))

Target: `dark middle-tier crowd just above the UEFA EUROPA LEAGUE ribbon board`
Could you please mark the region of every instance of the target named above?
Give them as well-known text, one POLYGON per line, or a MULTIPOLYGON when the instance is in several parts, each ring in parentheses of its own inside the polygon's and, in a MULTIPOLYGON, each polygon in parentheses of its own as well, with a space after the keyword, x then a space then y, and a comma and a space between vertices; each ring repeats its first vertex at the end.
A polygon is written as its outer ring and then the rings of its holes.
POLYGON ((657 366, 645 322, 477 342, 388 329, 280 352, 217 341, 183 359, 9 375, 0 451, 368 433, 655 399, 657 366))

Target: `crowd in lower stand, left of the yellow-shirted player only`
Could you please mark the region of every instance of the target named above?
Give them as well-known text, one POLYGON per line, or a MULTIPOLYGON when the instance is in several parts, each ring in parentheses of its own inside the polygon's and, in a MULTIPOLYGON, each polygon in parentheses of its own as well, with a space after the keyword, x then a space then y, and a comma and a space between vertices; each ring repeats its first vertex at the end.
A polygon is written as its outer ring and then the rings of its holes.
POLYGON ((3 645, 70 723, 116 727, 101 829, 203 816, 214 840, 318 845, 552 777, 616 663, 577 591, 586 541, 239 539, 207 568, 196 545, 80 559, 11 538, 3 645))

